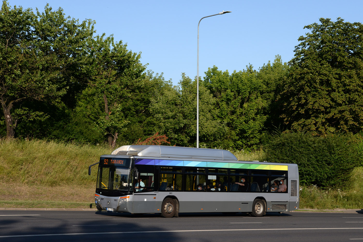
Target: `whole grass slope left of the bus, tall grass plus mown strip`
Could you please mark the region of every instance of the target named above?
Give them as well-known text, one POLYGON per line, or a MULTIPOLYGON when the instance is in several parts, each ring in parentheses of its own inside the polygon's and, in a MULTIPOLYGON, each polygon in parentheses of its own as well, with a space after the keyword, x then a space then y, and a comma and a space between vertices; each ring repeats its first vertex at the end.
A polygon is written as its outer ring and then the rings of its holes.
POLYGON ((107 146, 0 139, 0 208, 83 208, 94 203, 97 168, 107 146))

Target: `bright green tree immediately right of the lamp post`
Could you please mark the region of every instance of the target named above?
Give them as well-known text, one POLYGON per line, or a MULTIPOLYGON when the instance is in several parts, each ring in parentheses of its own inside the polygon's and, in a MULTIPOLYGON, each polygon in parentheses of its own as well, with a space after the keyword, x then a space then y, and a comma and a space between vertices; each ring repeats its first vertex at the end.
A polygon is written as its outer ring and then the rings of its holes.
POLYGON ((264 86, 257 71, 250 65, 229 75, 214 66, 205 72, 204 85, 216 99, 218 119, 229 128, 233 148, 256 148, 266 121, 263 110, 268 104, 261 97, 264 86))

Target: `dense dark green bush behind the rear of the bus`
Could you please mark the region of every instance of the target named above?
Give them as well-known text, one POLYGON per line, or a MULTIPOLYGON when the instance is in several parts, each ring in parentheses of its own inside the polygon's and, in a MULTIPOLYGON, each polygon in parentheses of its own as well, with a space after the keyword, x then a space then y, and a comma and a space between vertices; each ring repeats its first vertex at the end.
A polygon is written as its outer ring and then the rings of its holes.
POLYGON ((287 133, 275 136, 265 147, 266 160, 296 163, 301 185, 344 188, 354 167, 363 165, 361 137, 287 133))

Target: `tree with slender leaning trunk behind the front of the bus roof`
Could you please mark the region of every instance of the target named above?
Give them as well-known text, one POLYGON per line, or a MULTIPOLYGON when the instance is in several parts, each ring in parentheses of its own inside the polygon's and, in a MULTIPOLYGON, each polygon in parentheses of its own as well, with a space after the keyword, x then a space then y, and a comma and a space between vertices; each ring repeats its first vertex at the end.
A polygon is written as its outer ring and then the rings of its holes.
POLYGON ((114 147, 119 132, 129 123, 123 113, 124 104, 143 85, 145 66, 139 62, 140 53, 127 50, 122 41, 114 42, 113 36, 104 37, 88 42, 88 61, 83 67, 87 87, 78 99, 75 119, 105 135, 114 147))

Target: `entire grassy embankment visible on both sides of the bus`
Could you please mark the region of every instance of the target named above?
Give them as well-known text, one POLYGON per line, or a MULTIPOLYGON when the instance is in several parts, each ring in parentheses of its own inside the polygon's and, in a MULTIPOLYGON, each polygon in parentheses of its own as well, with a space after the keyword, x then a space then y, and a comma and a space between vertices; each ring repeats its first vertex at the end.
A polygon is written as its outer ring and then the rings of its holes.
MULTIPOLYGON (((102 146, 0 139, 0 208, 89 208, 97 168, 88 176, 88 166, 109 153, 102 146)), ((265 160, 262 151, 235 155, 265 160)), ((363 168, 352 172, 346 188, 303 187, 300 208, 363 208, 363 168)))

